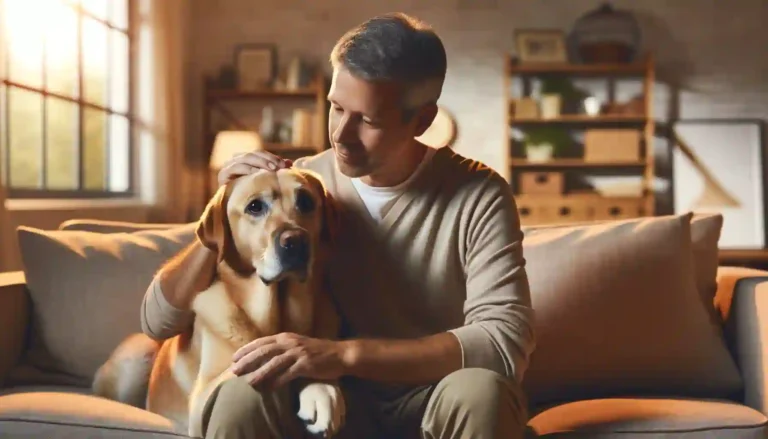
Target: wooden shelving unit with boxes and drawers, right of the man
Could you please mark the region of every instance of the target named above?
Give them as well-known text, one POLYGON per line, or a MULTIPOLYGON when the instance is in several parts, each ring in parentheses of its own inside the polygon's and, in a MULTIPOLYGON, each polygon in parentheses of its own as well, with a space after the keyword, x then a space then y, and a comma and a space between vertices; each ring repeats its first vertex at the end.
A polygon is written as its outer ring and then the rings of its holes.
MULTIPOLYGON (((542 129, 567 133, 567 137, 558 137, 567 139, 567 144, 560 145, 556 148, 559 153, 544 161, 528 160, 524 147, 508 133, 510 183, 515 188, 523 223, 570 223, 654 215, 654 194, 649 189, 653 187, 655 174, 652 57, 630 64, 592 65, 518 64, 508 57, 506 64, 507 129, 514 128, 526 135, 536 130, 541 133, 542 129), (556 82, 561 79, 552 78, 578 77, 607 81, 608 100, 600 111, 587 114, 587 105, 574 110, 572 105, 566 105, 566 99, 560 99, 563 106, 554 117, 551 109, 541 110, 541 102, 537 103, 532 93, 534 81, 548 80, 555 84, 544 90, 543 95, 557 93, 558 87, 562 89, 562 82, 556 82), (512 90, 515 79, 520 81, 517 85, 521 85, 517 95, 512 90), (619 79, 639 80, 642 94, 626 103, 617 102, 615 87, 619 79), (578 138, 583 139, 581 145, 574 140, 578 138), (606 177, 615 188, 596 182, 606 177), (621 181, 627 178, 636 181, 621 181), (585 186, 585 182, 589 184, 585 186), (588 189, 586 193, 585 189, 588 189)), ((594 102, 591 105, 594 107, 594 102)))

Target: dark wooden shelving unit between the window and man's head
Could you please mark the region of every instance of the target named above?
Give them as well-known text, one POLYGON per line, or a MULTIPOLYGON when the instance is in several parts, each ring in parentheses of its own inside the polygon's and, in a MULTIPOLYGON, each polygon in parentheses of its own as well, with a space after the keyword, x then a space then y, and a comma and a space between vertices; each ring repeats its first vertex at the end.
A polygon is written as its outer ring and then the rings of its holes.
POLYGON ((301 106, 310 108, 313 115, 312 134, 315 139, 310 144, 295 145, 292 142, 265 141, 265 149, 285 158, 296 159, 299 157, 314 155, 328 147, 325 135, 327 103, 326 81, 322 72, 318 73, 311 84, 300 89, 262 89, 242 91, 237 89, 213 88, 204 82, 203 85, 203 140, 205 156, 210 157, 216 130, 211 126, 214 111, 222 114, 230 123, 231 129, 243 129, 258 131, 257 126, 248 126, 234 112, 228 108, 228 104, 258 103, 263 105, 301 106))

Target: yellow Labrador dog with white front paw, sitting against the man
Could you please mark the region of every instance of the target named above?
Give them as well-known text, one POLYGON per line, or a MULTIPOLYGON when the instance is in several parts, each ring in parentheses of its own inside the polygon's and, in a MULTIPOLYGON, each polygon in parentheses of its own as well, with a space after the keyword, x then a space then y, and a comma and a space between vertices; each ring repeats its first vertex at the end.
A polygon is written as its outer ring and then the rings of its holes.
MULTIPOLYGON (((323 282, 333 212, 320 177, 306 170, 259 171, 222 186, 197 229, 218 253, 218 267, 213 284, 192 301, 194 324, 162 343, 129 337, 96 373, 94 393, 201 437, 206 400, 234 378, 229 368, 238 348, 280 332, 336 337, 339 319, 323 282)), ((346 411, 338 383, 302 380, 297 391, 306 429, 338 432, 346 411)))

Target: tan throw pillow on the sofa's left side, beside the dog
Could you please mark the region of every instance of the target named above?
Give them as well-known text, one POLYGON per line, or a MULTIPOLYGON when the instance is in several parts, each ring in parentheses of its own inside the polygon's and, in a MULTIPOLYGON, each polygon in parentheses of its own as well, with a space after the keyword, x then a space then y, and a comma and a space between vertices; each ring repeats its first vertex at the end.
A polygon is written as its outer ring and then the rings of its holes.
POLYGON ((33 305, 23 373, 48 383, 89 384, 128 334, 141 331, 140 305, 161 265, 194 238, 194 224, 101 234, 17 229, 33 305))

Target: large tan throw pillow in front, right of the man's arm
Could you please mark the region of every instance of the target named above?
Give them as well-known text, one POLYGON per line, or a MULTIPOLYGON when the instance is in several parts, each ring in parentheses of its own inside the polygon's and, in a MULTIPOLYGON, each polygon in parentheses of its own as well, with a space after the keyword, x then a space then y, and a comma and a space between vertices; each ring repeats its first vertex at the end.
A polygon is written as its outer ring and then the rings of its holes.
POLYGON ((693 274, 691 215, 527 229, 533 404, 741 388, 693 274))

